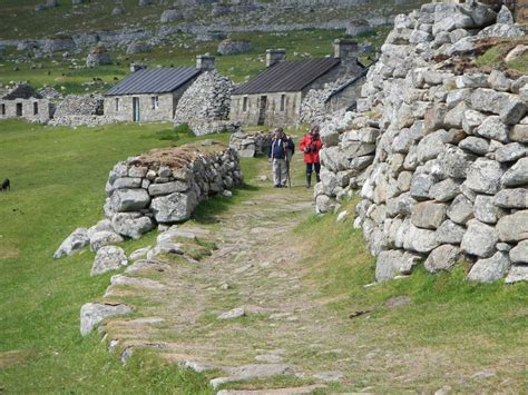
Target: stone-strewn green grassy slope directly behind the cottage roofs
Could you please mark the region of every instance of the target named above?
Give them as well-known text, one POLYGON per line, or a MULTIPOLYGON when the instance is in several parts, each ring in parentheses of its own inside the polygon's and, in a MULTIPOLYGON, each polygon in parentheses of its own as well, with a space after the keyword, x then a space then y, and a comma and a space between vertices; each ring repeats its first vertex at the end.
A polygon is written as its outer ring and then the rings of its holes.
MULTIPOLYGON (((360 42, 372 42, 378 48, 384 41, 388 28, 379 29, 373 34, 358 37, 360 42)), ((265 68, 265 51, 268 48, 285 48, 289 60, 305 57, 324 57, 333 55, 332 41, 343 37, 340 30, 307 30, 281 33, 237 33, 234 39, 250 40, 255 50, 236 56, 217 56, 219 72, 243 82, 265 68)), ((116 81, 126 77, 130 62, 143 62, 148 67, 194 66, 196 56, 216 53, 219 41, 196 43, 189 34, 177 34, 175 41, 153 49, 149 53, 126 55, 111 52, 114 63, 94 69, 75 69, 74 63, 84 66, 87 53, 62 59, 60 53, 52 58, 32 59, 30 52, 19 53, 10 49, 7 56, 0 56, 0 85, 10 81, 29 81, 37 88, 52 86, 63 93, 86 91, 105 91, 116 81), (18 59, 22 58, 23 61, 18 59), (96 79, 96 80, 95 80, 96 79), (63 88, 63 89, 62 89, 63 88)), ((362 58, 365 63, 370 59, 362 58)))

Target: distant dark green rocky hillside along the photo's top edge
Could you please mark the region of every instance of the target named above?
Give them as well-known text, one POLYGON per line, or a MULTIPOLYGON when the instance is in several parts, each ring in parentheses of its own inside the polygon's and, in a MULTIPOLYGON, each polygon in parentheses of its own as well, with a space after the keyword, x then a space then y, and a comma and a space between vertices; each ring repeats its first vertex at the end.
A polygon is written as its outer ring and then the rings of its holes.
POLYGON ((0 39, 41 39, 57 33, 79 34, 105 30, 153 31, 276 31, 303 28, 343 29, 348 26, 380 26, 392 17, 418 8, 420 0, 59 0, 46 8, 46 0, 2 0, 0 39), (147 1, 148 2, 148 1, 147 1), (117 4, 123 14, 113 14, 117 4), (166 12, 162 22, 164 11, 166 12), (37 28, 38 27, 38 28, 37 28))

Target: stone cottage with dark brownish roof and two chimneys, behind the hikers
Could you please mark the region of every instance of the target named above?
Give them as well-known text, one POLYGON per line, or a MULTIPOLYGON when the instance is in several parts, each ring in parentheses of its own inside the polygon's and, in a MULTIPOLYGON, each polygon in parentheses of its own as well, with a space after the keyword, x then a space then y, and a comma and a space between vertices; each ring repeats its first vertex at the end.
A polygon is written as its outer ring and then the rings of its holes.
POLYGON ((285 50, 268 49, 266 69, 233 91, 229 119, 245 125, 299 125, 301 103, 310 90, 363 70, 355 41, 335 40, 333 57, 300 61, 285 61, 285 50))

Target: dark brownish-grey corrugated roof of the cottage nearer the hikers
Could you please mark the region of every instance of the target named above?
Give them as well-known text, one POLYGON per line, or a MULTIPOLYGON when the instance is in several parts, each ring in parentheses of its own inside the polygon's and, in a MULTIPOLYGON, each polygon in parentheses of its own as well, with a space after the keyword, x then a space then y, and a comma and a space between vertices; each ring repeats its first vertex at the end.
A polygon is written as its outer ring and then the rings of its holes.
POLYGON ((339 63, 338 58, 282 61, 236 88, 233 95, 300 91, 339 63))

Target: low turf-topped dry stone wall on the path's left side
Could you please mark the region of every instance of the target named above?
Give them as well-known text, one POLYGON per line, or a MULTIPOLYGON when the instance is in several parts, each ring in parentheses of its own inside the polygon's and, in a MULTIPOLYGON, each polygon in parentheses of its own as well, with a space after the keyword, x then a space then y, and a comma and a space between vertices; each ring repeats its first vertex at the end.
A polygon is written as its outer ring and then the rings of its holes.
POLYGON ((127 238, 137 239, 158 225, 185 221, 202 200, 212 195, 231 196, 228 189, 241 182, 236 152, 212 140, 155 149, 120 161, 108 176, 106 219, 89 229, 76 229, 53 257, 88 245, 98 251, 127 238))

